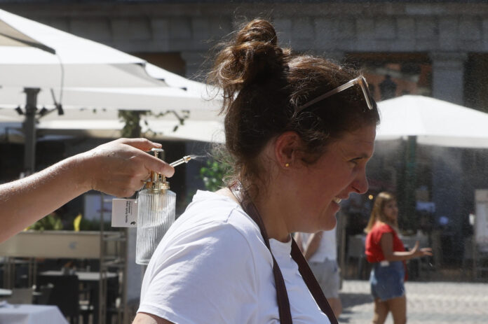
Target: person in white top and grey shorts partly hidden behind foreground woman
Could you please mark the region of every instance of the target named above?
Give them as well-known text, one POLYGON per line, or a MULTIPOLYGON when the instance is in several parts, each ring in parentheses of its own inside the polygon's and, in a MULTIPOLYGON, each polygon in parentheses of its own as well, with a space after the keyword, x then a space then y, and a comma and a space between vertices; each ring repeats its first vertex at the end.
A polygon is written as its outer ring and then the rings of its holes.
POLYGON ((334 227, 332 230, 313 234, 298 232, 295 234, 295 240, 305 260, 309 262, 310 269, 316 276, 334 315, 339 318, 342 304, 339 297, 341 278, 337 265, 336 229, 337 227, 334 227))

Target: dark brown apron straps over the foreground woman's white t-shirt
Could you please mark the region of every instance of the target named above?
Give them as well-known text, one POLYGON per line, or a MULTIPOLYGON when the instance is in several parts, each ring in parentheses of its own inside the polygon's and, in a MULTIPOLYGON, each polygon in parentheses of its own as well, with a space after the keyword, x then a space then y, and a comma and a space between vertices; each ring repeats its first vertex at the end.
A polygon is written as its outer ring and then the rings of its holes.
MULTIPOLYGON (((280 323, 281 324, 292 324, 292 314, 290 313, 290 300, 288 300, 288 293, 285 286, 285 280, 283 279, 283 274, 281 274, 280 267, 278 266, 278 262, 276 262, 273 253, 271 252, 271 247, 269 246, 269 238, 266 232, 266 228, 264 227, 263 220, 259 215, 259 211, 257 210, 255 204, 252 203, 252 200, 245 194, 245 192, 240 192, 240 185, 235 184, 229 186, 229 189, 233 193, 234 196, 241 202, 242 207, 246 213, 255 221, 255 223, 259 226, 259 230, 261 231, 261 235, 264 239, 264 244, 269 249, 269 253, 271 253, 271 257, 273 258, 273 276, 275 279, 276 285, 276 298, 278 301, 278 312, 280 314, 280 323), (243 199, 243 195, 246 195, 243 199)), ((318 307, 320 310, 323 311, 325 315, 329 318, 331 324, 337 324, 337 319, 330 308, 329 302, 325 298, 322 289, 320 288, 315 276, 309 267, 309 264, 306 262, 304 256, 301 254, 297 243, 292 239, 292 258, 295 262, 297 262, 299 272, 301 277, 304 279, 307 288, 309 288, 313 298, 316 300, 318 307)))

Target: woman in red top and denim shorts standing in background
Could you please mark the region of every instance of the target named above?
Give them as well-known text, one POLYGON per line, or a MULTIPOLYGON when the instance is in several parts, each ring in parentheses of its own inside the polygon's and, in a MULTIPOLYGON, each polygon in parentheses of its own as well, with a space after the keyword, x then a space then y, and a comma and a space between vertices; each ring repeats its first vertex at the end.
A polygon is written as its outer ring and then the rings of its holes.
POLYGON ((398 238, 398 206, 395 196, 381 192, 374 201, 370 221, 365 228, 366 257, 373 264, 370 276, 374 297, 374 324, 385 323, 391 311, 393 323, 407 323, 404 262, 412 258, 432 255, 431 248, 420 248, 416 242, 405 251, 398 238))

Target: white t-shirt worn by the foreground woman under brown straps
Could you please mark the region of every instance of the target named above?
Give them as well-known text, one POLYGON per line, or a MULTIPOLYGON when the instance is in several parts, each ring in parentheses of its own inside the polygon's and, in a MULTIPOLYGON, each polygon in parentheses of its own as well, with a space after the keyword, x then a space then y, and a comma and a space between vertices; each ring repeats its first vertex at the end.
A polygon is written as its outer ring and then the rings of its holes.
MULTIPOLYGON (((295 324, 330 323, 290 257, 270 239, 295 324)), ((259 227, 229 197, 198 191, 165 234, 142 281, 138 311, 177 324, 279 323, 273 259, 259 227)))

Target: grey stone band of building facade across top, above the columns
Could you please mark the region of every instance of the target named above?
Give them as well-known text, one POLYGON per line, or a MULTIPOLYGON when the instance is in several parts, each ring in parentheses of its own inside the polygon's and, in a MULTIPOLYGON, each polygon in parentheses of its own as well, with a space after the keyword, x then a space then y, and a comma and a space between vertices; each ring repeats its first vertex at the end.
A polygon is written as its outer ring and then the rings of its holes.
POLYGON ((51 1, 2 8, 126 52, 180 52, 189 74, 215 41, 258 16, 273 20, 281 43, 298 51, 427 52, 442 62, 488 52, 488 3, 155 2, 51 1))

